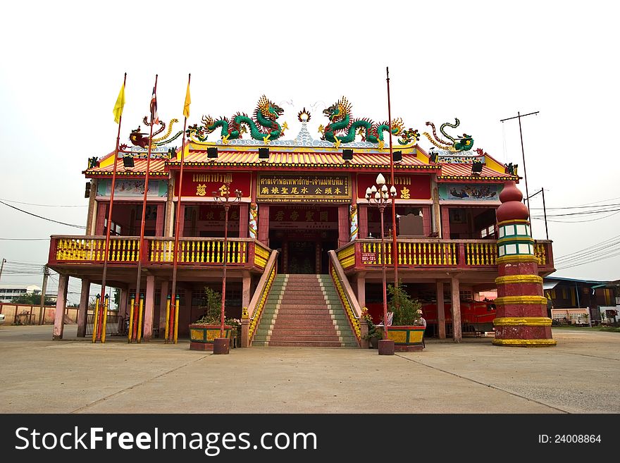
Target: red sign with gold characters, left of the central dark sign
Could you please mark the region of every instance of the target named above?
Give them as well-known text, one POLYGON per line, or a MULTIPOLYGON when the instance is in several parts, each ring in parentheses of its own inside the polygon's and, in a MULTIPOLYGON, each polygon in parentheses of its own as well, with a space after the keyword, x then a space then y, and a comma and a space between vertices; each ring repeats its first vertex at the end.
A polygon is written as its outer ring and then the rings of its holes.
MULTIPOLYGON (((176 173, 175 196, 178 196, 178 178, 176 173)), ((240 190, 243 197, 252 194, 252 173, 249 172, 213 172, 189 171, 183 173, 183 197, 212 198, 213 192, 223 192, 225 183, 230 182, 230 195, 240 190)))

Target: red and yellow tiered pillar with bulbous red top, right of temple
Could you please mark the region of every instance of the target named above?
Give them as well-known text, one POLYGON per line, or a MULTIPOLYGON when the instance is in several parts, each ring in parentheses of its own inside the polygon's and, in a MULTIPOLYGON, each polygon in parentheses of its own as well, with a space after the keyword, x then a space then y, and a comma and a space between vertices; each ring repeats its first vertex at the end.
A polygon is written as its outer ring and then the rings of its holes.
POLYGON ((495 345, 512 347, 554 346, 551 319, 547 317, 547 299, 543 296, 543 278, 538 276, 534 256, 529 212, 521 202, 523 195, 514 182, 508 182, 500 194, 497 208, 497 318, 495 345))

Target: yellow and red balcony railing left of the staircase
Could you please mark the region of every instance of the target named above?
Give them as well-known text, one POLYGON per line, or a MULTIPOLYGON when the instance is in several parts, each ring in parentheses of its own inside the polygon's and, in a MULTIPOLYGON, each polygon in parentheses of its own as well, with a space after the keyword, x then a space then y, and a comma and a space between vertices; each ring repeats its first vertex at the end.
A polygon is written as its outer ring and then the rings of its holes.
MULTIPOLYGON (((174 244, 173 238, 144 237, 144 250, 141 250, 139 237, 110 237, 108 265, 136 266, 141 261, 143 268, 173 268, 174 244)), ((48 265, 52 268, 102 265, 105 245, 104 236, 53 235, 48 265)), ((218 267, 226 259, 227 267, 262 271, 270 251, 250 238, 229 238, 226 253, 223 238, 187 237, 179 239, 177 264, 179 268, 218 267)))

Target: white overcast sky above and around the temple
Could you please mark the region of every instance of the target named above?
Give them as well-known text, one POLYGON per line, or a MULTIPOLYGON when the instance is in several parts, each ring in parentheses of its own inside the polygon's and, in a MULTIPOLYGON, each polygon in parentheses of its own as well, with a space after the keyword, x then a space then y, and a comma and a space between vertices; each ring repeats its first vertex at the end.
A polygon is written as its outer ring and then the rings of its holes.
MULTIPOLYGON (((457 117, 461 125, 454 135, 473 135, 474 149, 519 164, 520 175, 519 123, 500 119, 540 111, 521 124, 528 190, 532 195, 545 189, 547 214, 576 211, 552 213, 552 207, 619 204, 614 110, 620 99, 613 66, 619 8, 610 5, 597 0, 7 2, 0 28, 0 199, 80 205, 11 203, 85 225, 82 171, 89 157, 115 147, 112 109, 125 72, 121 142, 148 113, 156 74, 160 118, 182 124, 188 73, 189 123, 207 113, 252 113, 266 94, 285 109, 282 119, 291 129, 285 138, 297 135, 297 112, 316 104, 309 128, 318 138, 323 106, 342 95, 352 102, 354 117, 387 119, 389 66, 392 118, 424 132, 426 121, 439 126, 457 117)), ((424 137, 420 144, 430 148, 424 137)), ((525 192, 523 181, 519 186, 525 192)), ((542 216, 540 194, 530 205, 533 216, 542 216)), ((614 256, 619 239, 612 240, 620 235, 620 214, 611 214, 548 222, 556 259, 606 240, 616 243, 607 259, 554 276, 620 278, 620 256, 614 256)), ((544 239, 544 221, 532 223, 534 237, 544 239)), ((0 204, 2 238, 80 233, 0 204)), ((46 241, 0 240, 0 259, 44 264, 48 249, 46 241)), ((40 277, 3 276, 0 283, 18 282, 40 285, 40 277)), ((79 284, 72 288, 79 290, 79 284)))

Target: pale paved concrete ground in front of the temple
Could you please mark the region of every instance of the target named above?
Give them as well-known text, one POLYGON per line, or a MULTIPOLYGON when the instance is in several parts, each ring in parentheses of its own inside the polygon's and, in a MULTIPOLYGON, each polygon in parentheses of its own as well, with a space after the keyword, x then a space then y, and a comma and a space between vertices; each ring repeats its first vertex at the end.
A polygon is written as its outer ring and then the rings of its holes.
POLYGON ((619 413, 620 333, 556 347, 427 340, 423 352, 189 342, 93 345, 65 327, 0 326, 2 413, 619 413))

